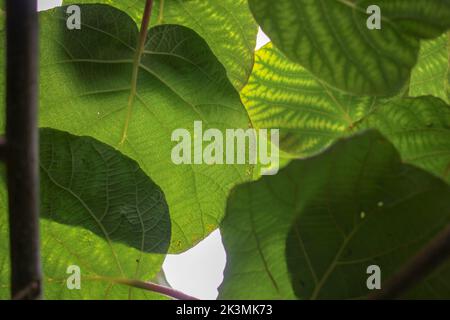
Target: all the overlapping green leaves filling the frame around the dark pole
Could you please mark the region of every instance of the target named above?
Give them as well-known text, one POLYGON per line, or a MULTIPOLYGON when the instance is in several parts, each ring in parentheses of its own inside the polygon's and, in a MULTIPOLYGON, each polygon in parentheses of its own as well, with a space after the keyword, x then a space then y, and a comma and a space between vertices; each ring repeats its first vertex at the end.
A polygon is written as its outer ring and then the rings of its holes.
MULTIPOLYGON (((220 228, 219 298, 364 299, 368 266, 388 279, 450 223, 450 0, 156 0, 138 59, 145 1, 70 4, 80 30, 39 13, 46 298, 163 299, 114 279, 155 279, 220 228), (171 133, 194 121, 279 129, 284 168, 175 165, 171 133)), ((450 298, 450 263, 405 297, 450 298)))

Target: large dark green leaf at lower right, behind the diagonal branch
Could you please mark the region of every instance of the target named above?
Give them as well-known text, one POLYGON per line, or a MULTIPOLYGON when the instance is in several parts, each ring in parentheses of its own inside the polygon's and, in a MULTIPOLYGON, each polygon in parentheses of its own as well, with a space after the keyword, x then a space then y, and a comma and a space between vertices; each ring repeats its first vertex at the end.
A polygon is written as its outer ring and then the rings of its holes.
MULTIPOLYGON (((404 164, 379 133, 340 140, 234 190, 221 227, 221 297, 364 297, 367 267, 380 266, 382 280, 398 271, 450 220, 449 198, 445 182, 404 164)), ((449 271, 411 296, 450 297, 449 271)))

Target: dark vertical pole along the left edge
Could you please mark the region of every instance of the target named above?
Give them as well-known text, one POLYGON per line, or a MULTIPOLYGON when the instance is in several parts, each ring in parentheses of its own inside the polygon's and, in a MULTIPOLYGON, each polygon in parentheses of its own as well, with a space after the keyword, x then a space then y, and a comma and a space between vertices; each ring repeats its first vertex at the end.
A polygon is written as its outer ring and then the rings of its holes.
POLYGON ((40 299, 37 0, 6 0, 6 33, 11 294, 40 299))

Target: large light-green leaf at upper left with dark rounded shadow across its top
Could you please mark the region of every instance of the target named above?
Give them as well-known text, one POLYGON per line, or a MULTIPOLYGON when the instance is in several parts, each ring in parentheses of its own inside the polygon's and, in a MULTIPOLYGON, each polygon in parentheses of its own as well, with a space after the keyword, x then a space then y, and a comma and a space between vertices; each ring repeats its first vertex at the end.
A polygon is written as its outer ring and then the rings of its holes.
POLYGON ((138 30, 125 13, 83 5, 81 30, 68 30, 65 10, 41 13, 40 125, 92 136, 136 160, 164 190, 172 250, 187 249, 217 227, 229 189, 252 167, 175 165, 171 135, 186 128, 193 136, 197 120, 223 133, 248 128, 238 93, 188 28, 150 29, 134 61, 138 30))

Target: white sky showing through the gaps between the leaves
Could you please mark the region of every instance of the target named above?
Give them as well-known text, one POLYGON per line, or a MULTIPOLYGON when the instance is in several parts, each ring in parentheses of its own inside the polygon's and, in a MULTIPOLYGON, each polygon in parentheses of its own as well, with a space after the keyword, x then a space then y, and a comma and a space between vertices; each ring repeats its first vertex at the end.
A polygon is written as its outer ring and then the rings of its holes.
MULTIPOLYGON (((62 0, 38 0, 38 8, 46 10, 61 3, 62 0)), ((260 30, 256 49, 269 41, 260 30)), ((167 281, 174 289, 199 299, 216 299, 225 263, 225 249, 220 232, 216 230, 190 250, 178 255, 167 255, 163 269, 167 281)))

